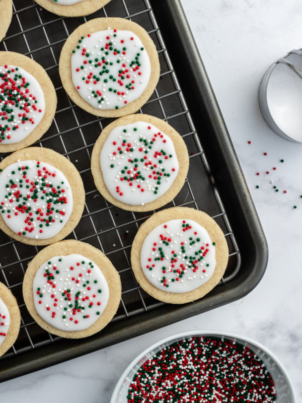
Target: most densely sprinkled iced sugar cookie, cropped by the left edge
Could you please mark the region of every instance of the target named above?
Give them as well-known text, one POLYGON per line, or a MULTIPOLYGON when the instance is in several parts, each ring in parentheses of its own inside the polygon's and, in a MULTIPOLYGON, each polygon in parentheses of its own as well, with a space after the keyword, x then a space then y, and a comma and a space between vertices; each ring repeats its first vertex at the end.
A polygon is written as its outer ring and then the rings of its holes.
POLYGON ((57 97, 40 64, 15 52, 0 52, 0 153, 28 147, 51 125, 57 97), (8 102, 8 104, 6 103, 8 102), (9 109, 9 110, 8 110, 9 109))

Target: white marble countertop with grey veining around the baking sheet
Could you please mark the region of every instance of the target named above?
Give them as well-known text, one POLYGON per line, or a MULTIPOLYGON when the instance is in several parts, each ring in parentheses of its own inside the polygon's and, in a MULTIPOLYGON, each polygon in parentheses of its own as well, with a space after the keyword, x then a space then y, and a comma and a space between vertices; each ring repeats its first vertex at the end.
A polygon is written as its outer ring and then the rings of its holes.
POLYGON ((302 47, 302 8, 297 0, 182 3, 267 237, 265 276, 243 300, 2 383, 1 403, 108 403, 119 376, 138 353, 190 329, 233 331, 264 344, 288 370, 297 401, 302 399, 302 145, 274 135, 257 103, 268 66, 302 47))

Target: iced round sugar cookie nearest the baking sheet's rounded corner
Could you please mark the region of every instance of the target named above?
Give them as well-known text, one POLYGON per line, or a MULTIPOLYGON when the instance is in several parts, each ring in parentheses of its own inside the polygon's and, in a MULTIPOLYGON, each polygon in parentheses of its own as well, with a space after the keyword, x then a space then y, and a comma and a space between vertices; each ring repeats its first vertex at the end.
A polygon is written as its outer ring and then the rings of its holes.
POLYGON ((141 288, 171 304, 195 301, 221 280, 229 259, 223 232, 206 213, 173 207, 140 227, 131 264, 141 288))

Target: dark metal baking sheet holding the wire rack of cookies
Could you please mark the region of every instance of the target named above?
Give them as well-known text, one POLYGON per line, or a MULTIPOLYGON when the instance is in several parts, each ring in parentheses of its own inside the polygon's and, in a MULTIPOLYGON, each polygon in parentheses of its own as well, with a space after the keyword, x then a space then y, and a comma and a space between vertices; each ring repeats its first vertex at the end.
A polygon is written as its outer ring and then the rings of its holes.
MULTIPOLYGON (((65 340, 41 329, 22 297, 28 262, 41 249, 0 233, 0 281, 17 297, 22 326, 13 348, 0 359, 0 381, 130 339, 181 319, 244 297, 261 280, 268 259, 266 240, 248 187, 223 122, 179 0, 112 0, 86 18, 61 18, 33 0, 13 0, 14 15, 0 50, 27 54, 47 71, 56 88, 55 119, 36 145, 65 155, 79 169, 86 190, 80 224, 68 238, 99 247, 122 280, 117 315, 100 333, 83 340, 65 340), (60 50, 69 33, 96 17, 128 18, 143 26, 156 43, 161 79, 142 107, 167 120, 183 136, 190 153, 187 181, 172 203, 211 215, 223 229, 230 260, 221 283, 201 300, 181 306, 149 297, 135 282, 130 267, 132 240, 149 213, 131 213, 109 205, 96 190, 90 156, 100 131, 112 119, 97 118, 75 106, 58 74, 60 50)), ((0 158, 4 158, 2 155, 0 158)))

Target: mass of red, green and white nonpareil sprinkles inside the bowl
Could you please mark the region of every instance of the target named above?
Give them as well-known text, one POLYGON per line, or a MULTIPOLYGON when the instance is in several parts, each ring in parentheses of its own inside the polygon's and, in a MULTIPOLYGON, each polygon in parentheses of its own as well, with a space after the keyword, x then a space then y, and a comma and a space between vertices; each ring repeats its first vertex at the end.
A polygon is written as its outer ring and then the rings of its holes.
POLYGON ((194 337, 147 360, 130 383, 128 403, 270 403, 276 389, 252 350, 218 337, 194 337))

